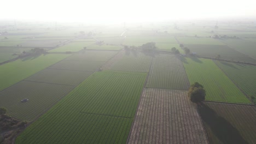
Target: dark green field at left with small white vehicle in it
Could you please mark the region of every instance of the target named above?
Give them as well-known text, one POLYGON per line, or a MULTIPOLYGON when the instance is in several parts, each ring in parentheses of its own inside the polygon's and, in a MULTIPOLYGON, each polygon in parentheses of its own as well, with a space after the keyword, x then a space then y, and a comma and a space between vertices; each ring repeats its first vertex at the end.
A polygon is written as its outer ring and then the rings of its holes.
POLYGON ((0 105, 6 107, 8 115, 12 117, 33 121, 73 88, 51 83, 21 81, 0 91, 0 105), (29 100, 22 103, 22 99, 29 100))

